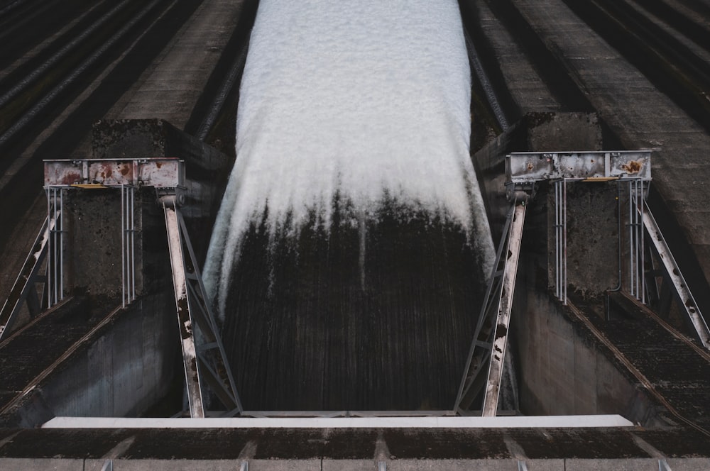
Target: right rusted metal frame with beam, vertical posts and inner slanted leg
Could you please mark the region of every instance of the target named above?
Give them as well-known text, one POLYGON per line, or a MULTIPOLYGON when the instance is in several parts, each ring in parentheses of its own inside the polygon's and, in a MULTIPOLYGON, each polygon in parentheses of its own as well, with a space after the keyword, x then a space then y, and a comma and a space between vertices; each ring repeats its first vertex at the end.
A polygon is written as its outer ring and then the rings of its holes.
MULTIPOLYGON (((525 207, 535 196, 537 184, 543 181, 552 182, 555 192, 555 294, 567 304, 567 183, 628 182, 630 208, 638 206, 645 199, 645 184, 650 181, 650 151, 513 153, 506 156, 506 196, 513 207, 503 228, 503 238, 498 245, 493 273, 454 403, 457 414, 464 414, 464 409, 471 406, 482 390, 481 414, 489 417, 498 414, 525 207), (486 365, 488 375, 484 380, 481 372, 486 365)), ((638 211, 630 211, 629 218, 630 289, 635 297, 645 299, 641 216, 638 211)))

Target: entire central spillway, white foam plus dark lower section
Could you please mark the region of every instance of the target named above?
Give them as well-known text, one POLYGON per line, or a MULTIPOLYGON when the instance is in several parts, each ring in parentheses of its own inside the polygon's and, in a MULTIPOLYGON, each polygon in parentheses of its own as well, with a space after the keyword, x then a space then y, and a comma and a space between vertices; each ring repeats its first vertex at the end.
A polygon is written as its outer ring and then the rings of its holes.
POLYGON ((456 1, 261 1, 205 267, 245 407, 448 409, 493 245, 456 1))

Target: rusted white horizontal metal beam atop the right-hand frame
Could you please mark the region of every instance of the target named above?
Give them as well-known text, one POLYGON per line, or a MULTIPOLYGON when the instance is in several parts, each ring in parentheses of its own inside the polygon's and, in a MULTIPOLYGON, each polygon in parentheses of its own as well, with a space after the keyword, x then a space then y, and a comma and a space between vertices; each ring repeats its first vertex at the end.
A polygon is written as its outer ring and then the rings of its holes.
POLYGON ((508 182, 532 183, 550 179, 651 179, 650 150, 537 153, 506 156, 508 182))

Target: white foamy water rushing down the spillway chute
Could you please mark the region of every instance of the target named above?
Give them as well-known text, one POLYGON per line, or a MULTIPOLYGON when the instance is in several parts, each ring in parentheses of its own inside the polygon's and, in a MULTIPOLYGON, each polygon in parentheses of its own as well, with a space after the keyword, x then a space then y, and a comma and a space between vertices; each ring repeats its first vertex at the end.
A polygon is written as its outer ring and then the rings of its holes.
POLYGON ((470 92, 455 0, 261 0, 204 270, 219 310, 267 205, 271 235, 297 234, 314 212, 329 227, 337 195, 360 217, 388 197, 461 226, 490 263, 470 92))

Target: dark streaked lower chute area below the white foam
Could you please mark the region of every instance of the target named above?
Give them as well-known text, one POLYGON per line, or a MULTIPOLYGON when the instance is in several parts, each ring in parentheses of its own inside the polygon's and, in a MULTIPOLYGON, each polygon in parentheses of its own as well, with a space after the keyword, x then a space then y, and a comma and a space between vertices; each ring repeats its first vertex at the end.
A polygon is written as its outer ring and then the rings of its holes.
POLYGON ((452 408, 482 264, 460 228, 398 214, 336 216, 271 248, 251 227, 223 330, 245 409, 452 408))

